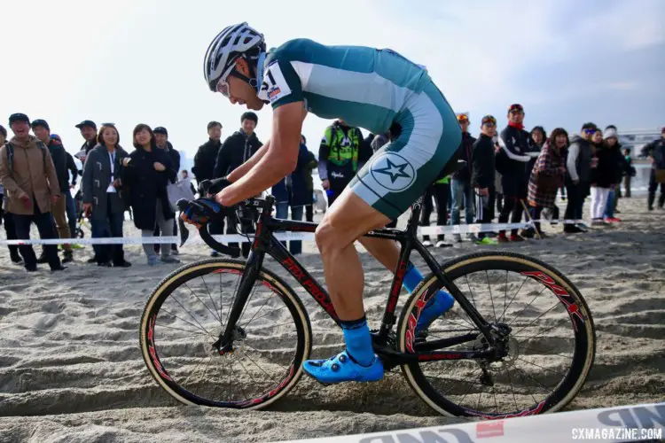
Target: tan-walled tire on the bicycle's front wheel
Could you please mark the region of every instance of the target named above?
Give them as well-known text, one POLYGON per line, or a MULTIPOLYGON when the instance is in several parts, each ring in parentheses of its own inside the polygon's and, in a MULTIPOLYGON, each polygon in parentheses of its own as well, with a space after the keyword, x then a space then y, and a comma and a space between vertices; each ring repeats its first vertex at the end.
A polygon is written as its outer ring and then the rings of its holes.
POLYGON ((298 298, 293 289, 279 276, 266 268, 262 268, 256 282, 262 283, 269 287, 271 291, 276 291, 278 293, 279 297, 292 315, 295 329, 297 331, 296 353, 293 356, 289 370, 286 372, 286 377, 281 380, 280 383, 276 383, 274 389, 266 392, 260 397, 243 401, 210 400, 190 392, 182 385, 178 385, 178 383, 168 375, 168 369, 163 367, 160 361, 160 355, 154 346, 154 319, 159 313, 160 307, 165 299, 167 299, 168 296, 181 284, 186 283, 199 275, 205 275, 206 273, 211 273, 213 271, 216 271, 217 273, 223 272, 223 270, 220 271, 220 269, 227 269, 228 272, 239 275, 245 267, 245 261, 232 259, 200 260, 185 265, 166 276, 160 284, 155 287, 145 305, 143 315, 141 316, 139 338, 141 354, 143 354, 145 365, 149 369, 154 380, 166 392, 168 392, 171 397, 183 404, 217 408, 266 408, 293 389, 293 386, 298 383, 302 375, 302 361, 307 360, 311 352, 312 332, 311 324, 309 323, 309 315, 307 314, 301 299, 298 298))

